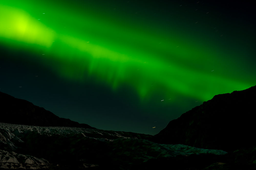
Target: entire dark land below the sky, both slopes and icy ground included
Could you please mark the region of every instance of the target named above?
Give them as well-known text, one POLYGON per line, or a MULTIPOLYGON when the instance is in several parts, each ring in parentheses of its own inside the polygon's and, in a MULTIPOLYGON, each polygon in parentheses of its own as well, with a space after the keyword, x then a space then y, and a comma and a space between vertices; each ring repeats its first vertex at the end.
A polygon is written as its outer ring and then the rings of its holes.
POLYGON ((0 93, 0 169, 253 170, 255 96, 256 86, 216 95, 152 136, 96 129, 0 93))

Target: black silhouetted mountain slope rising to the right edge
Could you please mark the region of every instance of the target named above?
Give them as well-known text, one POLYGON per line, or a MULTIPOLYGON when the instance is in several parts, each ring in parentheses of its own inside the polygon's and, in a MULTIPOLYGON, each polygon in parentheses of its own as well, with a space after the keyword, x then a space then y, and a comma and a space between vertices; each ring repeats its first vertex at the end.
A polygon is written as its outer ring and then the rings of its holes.
POLYGON ((219 94, 154 135, 153 142, 234 151, 255 145, 256 86, 219 94))

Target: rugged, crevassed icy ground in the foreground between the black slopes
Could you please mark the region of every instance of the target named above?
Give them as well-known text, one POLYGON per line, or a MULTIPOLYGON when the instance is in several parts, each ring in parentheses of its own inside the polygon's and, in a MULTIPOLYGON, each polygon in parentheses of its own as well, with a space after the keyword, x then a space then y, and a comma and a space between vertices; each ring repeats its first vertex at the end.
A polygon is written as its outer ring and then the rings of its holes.
POLYGON ((150 137, 100 129, 0 123, 0 163, 1 168, 9 169, 150 169, 162 166, 159 163, 185 168, 198 158, 204 160, 203 167, 211 165, 227 153, 157 144, 145 139, 150 137))

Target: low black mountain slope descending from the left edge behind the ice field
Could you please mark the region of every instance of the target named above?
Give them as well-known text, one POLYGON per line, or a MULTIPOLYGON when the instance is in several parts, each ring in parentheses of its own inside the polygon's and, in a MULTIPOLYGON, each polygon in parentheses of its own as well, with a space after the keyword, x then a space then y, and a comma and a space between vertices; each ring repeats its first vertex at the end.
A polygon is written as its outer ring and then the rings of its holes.
POLYGON ((80 124, 70 119, 60 118, 27 100, 17 99, 2 92, 0 92, 0 114, 0 122, 2 123, 96 129, 88 124, 80 124))

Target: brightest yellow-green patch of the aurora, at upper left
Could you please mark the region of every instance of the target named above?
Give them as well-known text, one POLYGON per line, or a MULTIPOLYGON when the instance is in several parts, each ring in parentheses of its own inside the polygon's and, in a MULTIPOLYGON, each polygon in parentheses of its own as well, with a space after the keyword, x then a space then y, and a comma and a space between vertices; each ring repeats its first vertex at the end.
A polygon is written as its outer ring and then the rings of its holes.
POLYGON ((1 37, 45 47, 51 46, 54 33, 25 11, 0 5, 0 16, 1 37))

